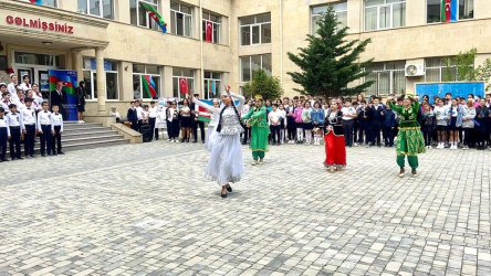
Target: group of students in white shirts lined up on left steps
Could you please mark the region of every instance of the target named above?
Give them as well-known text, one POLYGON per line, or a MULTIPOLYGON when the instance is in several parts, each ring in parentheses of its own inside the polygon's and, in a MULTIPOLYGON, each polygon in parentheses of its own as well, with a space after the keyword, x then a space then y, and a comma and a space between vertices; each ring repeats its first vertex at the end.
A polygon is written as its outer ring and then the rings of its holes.
MULTIPOLYGON (((29 76, 10 76, 11 83, 0 83, 0 162, 23 159, 21 145, 24 146, 24 158, 34 158, 34 142, 40 139, 41 156, 64 155, 61 136, 63 132, 63 107, 58 103, 44 100, 38 84, 31 84, 29 76), (10 148, 10 160, 7 158, 7 146, 10 148)), ((62 95, 61 87, 53 93, 62 95)))

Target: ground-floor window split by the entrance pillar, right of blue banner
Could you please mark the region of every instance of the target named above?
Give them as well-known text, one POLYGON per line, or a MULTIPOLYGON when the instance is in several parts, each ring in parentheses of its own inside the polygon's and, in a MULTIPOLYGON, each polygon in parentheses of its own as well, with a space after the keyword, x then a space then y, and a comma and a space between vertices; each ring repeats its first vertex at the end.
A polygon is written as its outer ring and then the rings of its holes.
MULTIPOLYGON (((95 67, 95 59, 84 59, 83 75, 88 91, 88 99, 97 98, 97 73, 95 67)), ((117 63, 104 61, 104 71, 106 72, 106 99, 118 99, 117 63)))

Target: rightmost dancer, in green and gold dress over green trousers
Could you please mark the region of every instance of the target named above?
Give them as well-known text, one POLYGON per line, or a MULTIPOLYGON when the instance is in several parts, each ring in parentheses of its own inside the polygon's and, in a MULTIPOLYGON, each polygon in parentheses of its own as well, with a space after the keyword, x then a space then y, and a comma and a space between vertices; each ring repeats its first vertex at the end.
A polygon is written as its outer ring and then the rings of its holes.
POLYGON ((419 102, 416 102, 409 108, 394 105, 389 102, 390 108, 400 115, 399 134, 397 135, 396 150, 397 164, 405 167, 405 156, 412 169, 417 169, 418 153, 425 153, 425 139, 422 138, 421 127, 417 120, 419 102))

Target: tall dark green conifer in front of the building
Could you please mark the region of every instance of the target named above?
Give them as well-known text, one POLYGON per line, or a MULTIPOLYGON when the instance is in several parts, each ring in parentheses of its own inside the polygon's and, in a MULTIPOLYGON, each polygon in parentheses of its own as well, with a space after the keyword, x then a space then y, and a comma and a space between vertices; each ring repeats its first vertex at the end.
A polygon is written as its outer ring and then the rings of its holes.
POLYGON ((317 22, 316 35, 307 35, 306 47, 300 47, 299 54, 288 53, 289 59, 300 67, 300 72, 289 72, 293 82, 302 89, 295 91, 325 98, 355 95, 364 92, 373 81, 363 82, 370 72, 367 71, 372 60, 359 62, 370 40, 347 41, 348 28, 341 28, 332 7, 323 13, 317 22), (362 79, 359 85, 348 84, 362 79))

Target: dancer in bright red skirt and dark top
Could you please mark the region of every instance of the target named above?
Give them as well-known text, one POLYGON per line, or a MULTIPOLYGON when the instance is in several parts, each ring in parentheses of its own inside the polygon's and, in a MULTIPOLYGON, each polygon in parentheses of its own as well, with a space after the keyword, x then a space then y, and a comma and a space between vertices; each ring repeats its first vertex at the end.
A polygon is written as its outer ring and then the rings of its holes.
POLYGON ((331 104, 331 113, 324 121, 325 161, 331 173, 346 166, 346 146, 343 135, 343 113, 336 103, 331 104))

